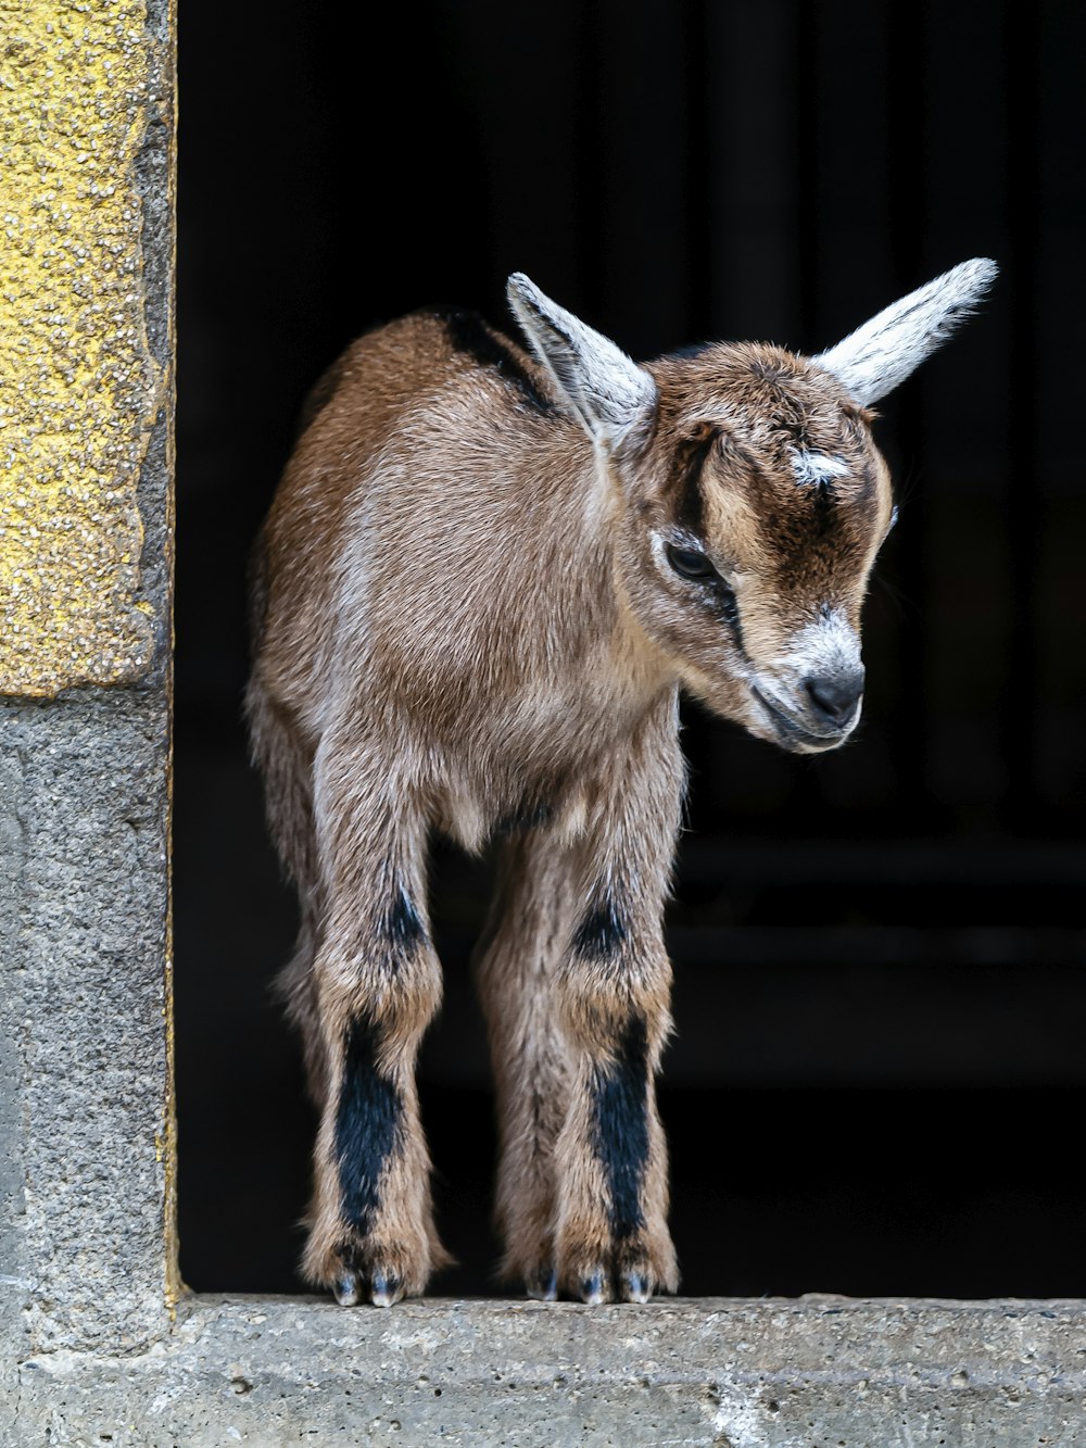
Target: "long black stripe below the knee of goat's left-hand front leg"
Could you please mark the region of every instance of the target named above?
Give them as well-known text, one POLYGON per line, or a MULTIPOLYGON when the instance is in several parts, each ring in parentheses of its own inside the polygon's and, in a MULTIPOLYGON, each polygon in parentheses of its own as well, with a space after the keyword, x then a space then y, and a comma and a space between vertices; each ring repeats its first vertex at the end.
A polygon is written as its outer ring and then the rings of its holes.
POLYGON ((378 1070, 376 1048, 376 1027, 356 1016, 343 1037, 336 1158, 343 1221, 359 1232, 376 1211, 381 1171, 397 1147, 404 1115, 395 1083, 378 1070))

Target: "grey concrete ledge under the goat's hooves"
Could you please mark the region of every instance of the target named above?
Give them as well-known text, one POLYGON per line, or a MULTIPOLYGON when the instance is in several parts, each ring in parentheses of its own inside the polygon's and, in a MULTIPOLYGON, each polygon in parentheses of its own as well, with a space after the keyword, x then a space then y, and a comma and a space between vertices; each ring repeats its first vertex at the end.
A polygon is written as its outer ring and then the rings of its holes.
POLYGON ((1086 1303, 198 1296, 151 1351, 13 1389, 4 1444, 1086 1444, 1086 1303))

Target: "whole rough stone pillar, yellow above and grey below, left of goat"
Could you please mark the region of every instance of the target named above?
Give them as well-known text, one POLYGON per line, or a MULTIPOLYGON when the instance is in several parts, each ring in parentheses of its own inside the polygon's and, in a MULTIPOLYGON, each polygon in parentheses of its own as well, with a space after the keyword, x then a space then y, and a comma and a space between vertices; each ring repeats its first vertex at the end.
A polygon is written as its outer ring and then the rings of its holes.
POLYGON ((172 113, 169 0, 0 0, 4 1367, 177 1292, 172 113))

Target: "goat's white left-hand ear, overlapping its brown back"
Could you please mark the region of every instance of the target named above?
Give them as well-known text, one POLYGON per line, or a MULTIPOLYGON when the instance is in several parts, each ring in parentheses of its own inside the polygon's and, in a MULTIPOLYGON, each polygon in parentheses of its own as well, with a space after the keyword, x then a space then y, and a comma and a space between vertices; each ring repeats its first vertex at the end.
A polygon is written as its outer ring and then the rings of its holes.
POLYGON ((656 403, 656 384, 602 333, 544 297, 524 272, 508 282, 510 306, 531 350, 588 436, 618 443, 656 403))

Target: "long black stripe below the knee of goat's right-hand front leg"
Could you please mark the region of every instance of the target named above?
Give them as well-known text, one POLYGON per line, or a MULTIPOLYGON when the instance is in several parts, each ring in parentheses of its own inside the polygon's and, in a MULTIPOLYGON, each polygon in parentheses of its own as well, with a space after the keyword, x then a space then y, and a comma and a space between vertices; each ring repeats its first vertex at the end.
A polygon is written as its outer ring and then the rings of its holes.
POLYGON ((644 1226, 641 1182, 649 1160, 649 1032, 644 1016, 630 1019, 615 1058, 592 1080, 592 1148, 604 1167, 617 1239, 644 1226))

